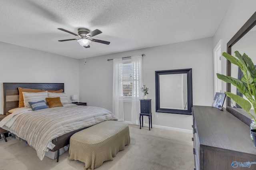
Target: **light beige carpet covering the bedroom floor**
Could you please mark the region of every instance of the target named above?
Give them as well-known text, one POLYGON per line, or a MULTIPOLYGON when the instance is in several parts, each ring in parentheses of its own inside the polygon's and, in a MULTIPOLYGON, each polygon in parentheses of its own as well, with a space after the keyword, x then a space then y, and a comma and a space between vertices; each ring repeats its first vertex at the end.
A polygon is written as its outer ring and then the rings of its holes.
MULTIPOLYGON (((192 133, 129 127, 130 145, 95 170, 194 169, 192 133)), ((7 140, 0 139, 0 170, 84 170, 83 162, 68 159, 68 151, 60 155, 59 162, 48 157, 40 160, 26 143, 12 137, 7 140)))

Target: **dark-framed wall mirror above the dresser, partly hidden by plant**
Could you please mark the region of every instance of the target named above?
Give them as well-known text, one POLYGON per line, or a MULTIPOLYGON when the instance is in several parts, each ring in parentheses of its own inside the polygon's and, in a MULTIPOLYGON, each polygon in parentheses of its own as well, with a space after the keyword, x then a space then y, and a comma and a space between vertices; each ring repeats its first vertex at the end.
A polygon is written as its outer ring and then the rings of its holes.
MULTIPOLYGON (((234 51, 239 51, 239 53, 246 53, 248 57, 252 59, 252 62, 256 64, 256 12, 249 18, 248 21, 238 30, 238 32, 228 41, 227 43, 227 53, 234 56, 234 51)), ((227 60, 227 76, 232 76, 234 78, 240 78, 238 66, 235 66, 230 61, 227 60)), ((232 92, 242 96, 238 93, 236 87, 231 86, 230 83, 227 83, 227 92, 232 92)), ((243 111, 243 109, 234 108, 237 107, 236 103, 232 101, 229 97, 226 99, 226 109, 241 119, 247 125, 250 125, 251 120, 248 118, 248 114, 243 111)))

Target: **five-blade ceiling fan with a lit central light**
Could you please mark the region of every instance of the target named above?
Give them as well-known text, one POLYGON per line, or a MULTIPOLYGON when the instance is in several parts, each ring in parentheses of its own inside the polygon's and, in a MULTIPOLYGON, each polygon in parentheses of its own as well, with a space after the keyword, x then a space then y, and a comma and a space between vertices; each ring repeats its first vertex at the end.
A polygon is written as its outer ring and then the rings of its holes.
POLYGON ((103 41, 103 40, 99 40, 99 39, 89 39, 90 37, 93 37, 95 35, 98 35, 98 34, 102 33, 102 31, 100 31, 98 29, 95 29, 94 31, 90 32, 89 29, 78 28, 78 35, 76 33, 72 33, 72 32, 70 32, 70 31, 68 31, 66 29, 63 29, 63 28, 58 28, 58 29, 60 29, 61 31, 65 31, 67 33, 76 35, 76 36, 78 36, 80 38, 80 39, 64 39, 64 40, 59 40, 59 41, 77 40, 78 43, 80 45, 82 45, 84 48, 89 48, 91 41, 94 41, 96 43, 107 44, 107 45, 110 44, 110 42, 108 42, 108 41, 103 41))

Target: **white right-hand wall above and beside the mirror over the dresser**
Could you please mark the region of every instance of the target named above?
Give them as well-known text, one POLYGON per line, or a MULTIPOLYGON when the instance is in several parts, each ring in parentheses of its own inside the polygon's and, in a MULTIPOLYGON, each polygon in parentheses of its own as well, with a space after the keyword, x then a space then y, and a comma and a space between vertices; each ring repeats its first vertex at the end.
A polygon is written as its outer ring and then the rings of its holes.
MULTIPOLYGON (((236 34, 236 32, 246 23, 254 14, 255 0, 232 0, 213 40, 214 47, 222 39, 221 53, 227 52, 227 43, 236 34)), ((245 52, 246 53, 246 52, 245 52)), ((233 55, 233 54, 232 54, 233 55)), ((226 75, 226 59, 222 56, 222 74, 226 75)), ((226 91, 226 83, 222 81, 222 90, 226 91)), ((226 103, 226 102, 225 102, 226 103)), ((224 104, 224 106, 226 106, 224 104)))

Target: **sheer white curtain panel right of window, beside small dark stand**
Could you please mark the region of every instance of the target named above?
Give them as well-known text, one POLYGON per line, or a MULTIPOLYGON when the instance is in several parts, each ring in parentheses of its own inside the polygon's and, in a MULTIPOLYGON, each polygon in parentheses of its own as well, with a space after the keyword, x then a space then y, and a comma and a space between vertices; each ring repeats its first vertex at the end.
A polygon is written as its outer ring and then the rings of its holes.
POLYGON ((132 58, 132 123, 138 125, 140 113, 140 99, 142 99, 142 56, 132 58))

